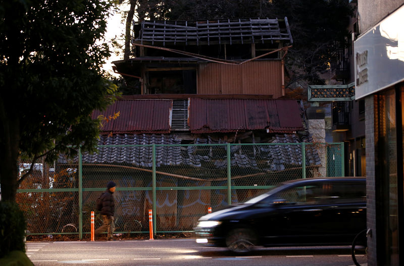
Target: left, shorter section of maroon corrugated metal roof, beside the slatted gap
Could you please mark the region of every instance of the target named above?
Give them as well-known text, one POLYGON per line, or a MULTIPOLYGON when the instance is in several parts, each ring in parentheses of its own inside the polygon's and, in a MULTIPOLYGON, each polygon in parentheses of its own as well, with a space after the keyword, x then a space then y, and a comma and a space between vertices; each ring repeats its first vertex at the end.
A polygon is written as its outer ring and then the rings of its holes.
POLYGON ((104 122, 104 133, 169 133, 171 109, 169 99, 120 99, 104 112, 94 111, 92 118, 120 113, 115 120, 104 122))

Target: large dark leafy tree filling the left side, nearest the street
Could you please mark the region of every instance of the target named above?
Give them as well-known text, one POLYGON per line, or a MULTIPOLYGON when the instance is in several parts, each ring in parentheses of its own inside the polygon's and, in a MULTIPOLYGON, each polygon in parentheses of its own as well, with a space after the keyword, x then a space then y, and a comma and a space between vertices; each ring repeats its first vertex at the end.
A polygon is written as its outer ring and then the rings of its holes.
POLYGON ((93 151, 99 133, 93 110, 113 102, 116 86, 101 69, 110 56, 100 42, 108 0, 0 0, 0 179, 2 200, 18 162, 53 162, 60 152, 93 151))

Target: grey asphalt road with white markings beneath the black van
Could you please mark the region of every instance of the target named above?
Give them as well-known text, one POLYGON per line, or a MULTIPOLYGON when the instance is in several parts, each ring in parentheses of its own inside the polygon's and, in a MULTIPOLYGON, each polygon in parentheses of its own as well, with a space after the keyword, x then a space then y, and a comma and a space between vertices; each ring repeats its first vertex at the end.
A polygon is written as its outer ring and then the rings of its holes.
POLYGON ((348 246, 258 248, 240 256, 226 248, 200 246, 194 239, 27 242, 26 253, 35 266, 354 265, 348 246))

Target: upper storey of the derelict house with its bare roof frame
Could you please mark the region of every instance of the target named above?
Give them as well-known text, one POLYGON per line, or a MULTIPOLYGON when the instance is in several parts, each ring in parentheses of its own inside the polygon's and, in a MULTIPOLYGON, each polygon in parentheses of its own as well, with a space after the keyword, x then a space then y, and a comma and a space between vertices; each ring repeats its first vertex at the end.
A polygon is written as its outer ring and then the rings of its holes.
POLYGON ((286 18, 142 21, 133 32, 136 57, 113 63, 138 94, 284 93, 286 18))

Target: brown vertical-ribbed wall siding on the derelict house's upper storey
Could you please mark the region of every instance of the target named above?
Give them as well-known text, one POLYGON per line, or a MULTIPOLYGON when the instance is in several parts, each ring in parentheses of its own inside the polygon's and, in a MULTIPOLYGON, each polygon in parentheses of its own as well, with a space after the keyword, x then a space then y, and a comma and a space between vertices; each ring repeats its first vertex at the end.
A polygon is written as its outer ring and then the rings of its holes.
POLYGON ((200 64, 197 75, 197 94, 282 96, 280 61, 252 61, 242 65, 200 64))

